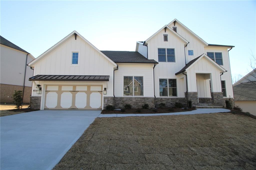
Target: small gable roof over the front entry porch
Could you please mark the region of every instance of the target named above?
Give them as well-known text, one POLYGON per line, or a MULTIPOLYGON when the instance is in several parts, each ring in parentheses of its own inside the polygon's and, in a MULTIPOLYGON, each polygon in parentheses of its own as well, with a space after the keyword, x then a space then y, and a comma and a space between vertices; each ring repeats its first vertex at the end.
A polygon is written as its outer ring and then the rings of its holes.
POLYGON ((208 57, 205 53, 203 53, 202 55, 200 55, 200 56, 196 57, 195 59, 191 60, 190 62, 188 62, 188 64, 185 67, 183 67, 180 71, 176 72, 175 75, 185 72, 186 70, 188 70, 191 66, 193 66, 197 61, 199 61, 203 57, 206 58, 210 63, 212 63, 215 67, 217 67, 221 71, 223 71, 223 72, 227 71, 223 67, 221 67, 219 64, 214 62, 214 60, 212 60, 210 57, 208 57))

